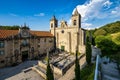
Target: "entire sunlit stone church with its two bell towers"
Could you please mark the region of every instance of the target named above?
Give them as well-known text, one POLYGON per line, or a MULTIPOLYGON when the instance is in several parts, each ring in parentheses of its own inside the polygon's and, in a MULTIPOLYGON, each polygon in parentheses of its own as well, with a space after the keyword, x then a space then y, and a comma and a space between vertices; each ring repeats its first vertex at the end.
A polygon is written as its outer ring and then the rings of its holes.
POLYGON ((86 32, 81 28, 81 15, 77 9, 71 17, 71 23, 68 25, 62 20, 58 26, 55 16, 50 20, 50 32, 55 36, 56 47, 70 53, 75 53, 77 48, 79 53, 85 53, 86 32))

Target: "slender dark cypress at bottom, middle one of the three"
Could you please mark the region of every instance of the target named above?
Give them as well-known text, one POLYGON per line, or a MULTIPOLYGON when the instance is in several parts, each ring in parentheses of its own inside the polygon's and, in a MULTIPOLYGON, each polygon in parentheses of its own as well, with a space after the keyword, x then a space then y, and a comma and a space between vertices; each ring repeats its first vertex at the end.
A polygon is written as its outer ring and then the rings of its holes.
POLYGON ((77 49, 76 49, 76 60, 75 60, 75 80, 81 80, 80 79, 80 65, 79 65, 78 50, 77 49))

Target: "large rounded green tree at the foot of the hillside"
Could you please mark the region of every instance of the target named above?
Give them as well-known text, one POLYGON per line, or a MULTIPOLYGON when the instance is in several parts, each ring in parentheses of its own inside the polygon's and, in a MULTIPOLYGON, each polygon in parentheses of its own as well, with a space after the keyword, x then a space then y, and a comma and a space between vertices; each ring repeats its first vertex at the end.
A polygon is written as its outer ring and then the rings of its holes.
POLYGON ((111 36, 97 36, 95 41, 103 55, 115 53, 117 51, 117 45, 112 41, 111 36))

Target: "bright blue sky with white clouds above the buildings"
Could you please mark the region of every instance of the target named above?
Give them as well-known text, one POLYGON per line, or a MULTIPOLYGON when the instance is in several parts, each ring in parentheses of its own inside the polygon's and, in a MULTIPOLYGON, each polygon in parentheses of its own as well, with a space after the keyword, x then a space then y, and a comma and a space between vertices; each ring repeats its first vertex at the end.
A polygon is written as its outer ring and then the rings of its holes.
POLYGON ((81 27, 93 29, 120 21, 120 0, 0 0, 0 25, 28 25, 31 30, 49 31, 53 15, 71 24, 77 8, 81 27))

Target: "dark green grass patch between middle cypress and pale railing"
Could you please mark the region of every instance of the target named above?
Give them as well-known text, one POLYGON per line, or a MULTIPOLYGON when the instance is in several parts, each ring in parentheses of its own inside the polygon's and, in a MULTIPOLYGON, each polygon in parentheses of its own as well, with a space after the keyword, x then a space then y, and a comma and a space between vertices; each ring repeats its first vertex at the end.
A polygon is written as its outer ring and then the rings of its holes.
POLYGON ((95 64, 87 65, 80 71, 82 80, 94 80, 95 64))

